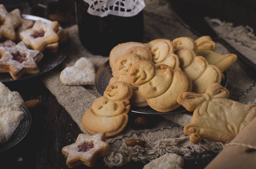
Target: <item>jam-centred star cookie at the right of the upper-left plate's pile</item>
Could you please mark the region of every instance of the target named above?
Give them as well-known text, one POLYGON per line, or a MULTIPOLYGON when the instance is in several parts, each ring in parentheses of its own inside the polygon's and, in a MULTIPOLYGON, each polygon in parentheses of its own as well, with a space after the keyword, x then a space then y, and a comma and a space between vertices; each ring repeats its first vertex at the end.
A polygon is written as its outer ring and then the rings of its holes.
POLYGON ((57 21, 45 24, 37 20, 32 28, 20 32, 20 38, 28 48, 42 52, 50 43, 58 42, 59 36, 56 33, 58 28, 57 21))

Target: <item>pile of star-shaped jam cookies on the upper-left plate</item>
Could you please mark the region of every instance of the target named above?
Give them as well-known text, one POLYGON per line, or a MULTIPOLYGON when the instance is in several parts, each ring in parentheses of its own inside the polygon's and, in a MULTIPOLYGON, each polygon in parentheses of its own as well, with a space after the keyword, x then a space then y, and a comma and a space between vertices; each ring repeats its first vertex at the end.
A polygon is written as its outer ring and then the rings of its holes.
POLYGON ((0 72, 19 79, 24 73, 36 74, 44 50, 58 53, 60 43, 66 42, 68 32, 59 23, 43 23, 23 19, 19 9, 7 12, 0 5, 0 72), (17 44, 16 44, 17 43, 17 44))

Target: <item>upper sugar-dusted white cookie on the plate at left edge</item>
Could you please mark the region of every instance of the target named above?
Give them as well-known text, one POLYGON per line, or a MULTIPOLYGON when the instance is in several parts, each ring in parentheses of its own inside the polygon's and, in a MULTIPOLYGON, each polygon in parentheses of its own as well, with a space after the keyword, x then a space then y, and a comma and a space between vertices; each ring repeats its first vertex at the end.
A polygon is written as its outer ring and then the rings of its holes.
POLYGON ((19 92, 10 91, 5 84, 0 82, 0 107, 8 108, 14 111, 21 111, 21 106, 24 105, 24 101, 21 98, 19 92))

